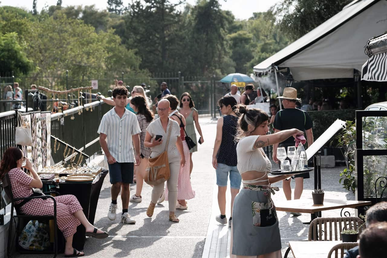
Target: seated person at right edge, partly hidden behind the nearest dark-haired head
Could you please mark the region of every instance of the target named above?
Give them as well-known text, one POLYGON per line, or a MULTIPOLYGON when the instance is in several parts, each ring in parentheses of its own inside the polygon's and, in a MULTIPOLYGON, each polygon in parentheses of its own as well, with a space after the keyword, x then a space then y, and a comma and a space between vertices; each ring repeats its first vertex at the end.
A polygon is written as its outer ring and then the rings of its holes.
MULTIPOLYGON (((366 227, 371 227, 377 222, 387 222, 387 201, 373 205, 366 213, 366 227)), ((356 258, 359 255, 359 246, 349 249, 344 258, 356 258)), ((363 257, 363 256, 362 256, 363 257)))

